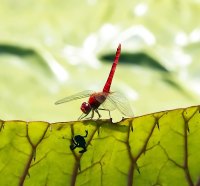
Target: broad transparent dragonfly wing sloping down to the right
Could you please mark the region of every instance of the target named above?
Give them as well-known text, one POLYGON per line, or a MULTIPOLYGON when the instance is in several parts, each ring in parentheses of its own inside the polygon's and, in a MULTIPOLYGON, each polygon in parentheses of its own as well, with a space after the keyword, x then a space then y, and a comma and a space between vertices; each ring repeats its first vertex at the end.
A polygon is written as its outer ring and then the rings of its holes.
POLYGON ((134 116, 131 105, 123 94, 119 92, 111 92, 107 96, 107 100, 109 100, 112 105, 114 105, 125 116, 134 116))

